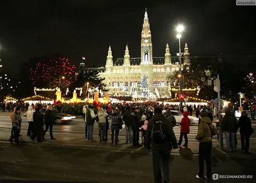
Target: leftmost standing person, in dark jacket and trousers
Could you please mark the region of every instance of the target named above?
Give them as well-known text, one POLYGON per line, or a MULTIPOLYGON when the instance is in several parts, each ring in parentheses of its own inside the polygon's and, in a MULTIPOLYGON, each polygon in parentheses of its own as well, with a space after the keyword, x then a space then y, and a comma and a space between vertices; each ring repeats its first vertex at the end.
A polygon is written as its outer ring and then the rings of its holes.
POLYGON ((12 142, 14 138, 15 143, 19 145, 19 133, 20 133, 20 126, 22 122, 22 118, 20 117, 19 106, 16 107, 16 110, 12 115, 12 121, 13 121, 14 135, 10 138, 10 142, 12 142))

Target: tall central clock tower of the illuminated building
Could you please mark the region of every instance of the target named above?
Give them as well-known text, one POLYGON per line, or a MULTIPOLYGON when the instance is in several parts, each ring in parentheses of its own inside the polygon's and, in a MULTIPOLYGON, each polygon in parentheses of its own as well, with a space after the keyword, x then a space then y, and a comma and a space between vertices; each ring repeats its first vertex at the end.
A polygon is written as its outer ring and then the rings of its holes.
POLYGON ((153 64, 152 40, 147 9, 145 11, 144 22, 141 31, 141 65, 142 64, 153 64))

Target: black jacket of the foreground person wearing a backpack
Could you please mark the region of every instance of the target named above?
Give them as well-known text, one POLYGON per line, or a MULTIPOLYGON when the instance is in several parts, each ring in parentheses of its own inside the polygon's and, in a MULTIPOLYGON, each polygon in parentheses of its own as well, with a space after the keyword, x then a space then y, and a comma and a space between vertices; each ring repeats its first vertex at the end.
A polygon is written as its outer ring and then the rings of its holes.
POLYGON ((164 117, 162 113, 156 113, 153 115, 152 119, 148 122, 147 126, 147 134, 146 134, 146 149, 150 149, 150 144, 152 145, 152 150, 172 150, 177 149, 177 140, 175 137, 175 134, 172 129, 172 125, 170 122, 164 117), (163 128, 166 129, 166 140, 164 140, 162 143, 156 143, 151 140, 151 133, 154 126, 154 122, 156 121, 162 121, 163 122, 163 128))

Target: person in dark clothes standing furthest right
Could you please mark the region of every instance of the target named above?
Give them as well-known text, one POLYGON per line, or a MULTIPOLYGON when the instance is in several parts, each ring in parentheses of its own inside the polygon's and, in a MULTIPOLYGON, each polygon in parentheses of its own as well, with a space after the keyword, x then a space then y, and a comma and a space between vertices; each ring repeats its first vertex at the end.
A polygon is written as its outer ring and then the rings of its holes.
POLYGON ((237 129, 239 128, 240 128, 240 135, 241 135, 242 150, 244 150, 245 152, 248 152, 250 147, 250 135, 252 135, 252 132, 254 130, 252 129, 252 121, 250 117, 247 116, 246 111, 243 111, 241 113, 241 117, 238 120, 237 129), (244 139, 245 139, 245 145, 244 145, 244 139))

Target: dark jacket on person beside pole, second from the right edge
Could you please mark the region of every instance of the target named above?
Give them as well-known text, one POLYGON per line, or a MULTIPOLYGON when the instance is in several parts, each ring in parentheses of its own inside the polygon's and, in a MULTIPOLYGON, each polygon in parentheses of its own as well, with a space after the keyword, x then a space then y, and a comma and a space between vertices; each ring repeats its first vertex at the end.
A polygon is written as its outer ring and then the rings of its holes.
POLYGON ((236 132, 237 131, 237 119, 234 113, 226 112, 223 117, 223 131, 236 132))

